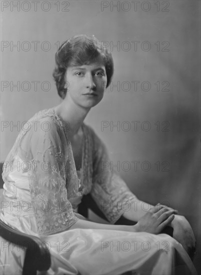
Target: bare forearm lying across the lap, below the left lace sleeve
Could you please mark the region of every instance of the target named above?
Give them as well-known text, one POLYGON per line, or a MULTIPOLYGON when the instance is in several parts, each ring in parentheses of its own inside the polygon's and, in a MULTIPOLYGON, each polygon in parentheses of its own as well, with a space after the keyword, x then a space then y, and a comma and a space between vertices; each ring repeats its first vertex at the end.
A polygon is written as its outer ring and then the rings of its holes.
POLYGON ((114 225, 114 224, 104 224, 97 223, 93 221, 78 219, 69 229, 104 229, 104 230, 121 230, 128 232, 135 232, 135 225, 114 225))

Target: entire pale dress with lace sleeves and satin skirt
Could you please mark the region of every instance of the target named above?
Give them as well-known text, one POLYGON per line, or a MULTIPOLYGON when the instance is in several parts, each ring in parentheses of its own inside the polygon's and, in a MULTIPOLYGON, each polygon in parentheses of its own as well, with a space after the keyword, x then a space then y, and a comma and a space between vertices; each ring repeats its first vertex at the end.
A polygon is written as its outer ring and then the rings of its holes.
MULTIPOLYGON (((82 124, 80 172, 69 125, 54 108, 39 111, 26 126, 5 160, 0 218, 46 243, 51 253, 46 274, 196 274, 185 250, 166 234, 70 229, 80 218, 74 209, 83 194, 91 194, 111 223, 123 213, 125 201, 137 198, 110 171, 106 148, 89 126, 82 124)), ((1 238, 2 243, 0 273, 20 274, 24 251, 1 238)))

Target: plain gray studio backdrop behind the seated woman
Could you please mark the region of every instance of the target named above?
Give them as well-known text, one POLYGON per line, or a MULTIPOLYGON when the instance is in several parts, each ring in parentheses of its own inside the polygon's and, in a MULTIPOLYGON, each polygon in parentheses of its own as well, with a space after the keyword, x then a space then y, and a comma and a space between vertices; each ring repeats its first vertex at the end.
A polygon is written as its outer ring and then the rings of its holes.
POLYGON ((23 121, 60 102, 51 76, 58 45, 94 34, 115 71, 85 122, 138 198, 188 218, 200 270, 200 1, 18 2, 1 1, 1 161, 23 121))

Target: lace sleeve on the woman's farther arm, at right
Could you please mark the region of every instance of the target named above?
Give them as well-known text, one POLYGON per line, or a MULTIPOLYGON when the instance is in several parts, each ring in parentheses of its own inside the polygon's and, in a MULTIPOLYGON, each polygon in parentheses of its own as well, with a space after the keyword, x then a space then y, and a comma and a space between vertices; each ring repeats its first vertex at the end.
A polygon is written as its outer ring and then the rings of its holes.
POLYGON ((114 223, 137 198, 129 190, 123 179, 111 171, 105 145, 96 135, 93 139, 94 160, 91 196, 108 221, 114 223))

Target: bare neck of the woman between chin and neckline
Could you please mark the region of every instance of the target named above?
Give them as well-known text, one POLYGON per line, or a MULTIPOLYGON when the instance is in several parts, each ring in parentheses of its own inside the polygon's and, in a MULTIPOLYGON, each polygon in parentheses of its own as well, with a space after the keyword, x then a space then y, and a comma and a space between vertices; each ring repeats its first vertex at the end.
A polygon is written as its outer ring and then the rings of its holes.
POLYGON ((76 105, 70 97, 63 99, 54 109, 62 120, 69 125, 67 134, 70 140, 78 132, 86 114, 90 110, 90 108, 83 108, 76 105))

